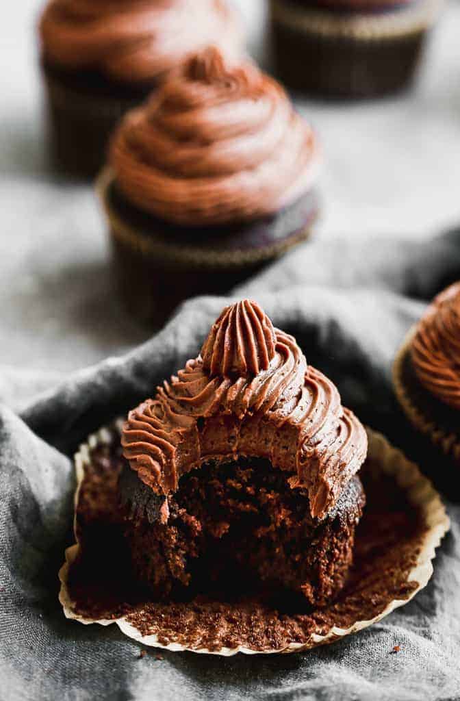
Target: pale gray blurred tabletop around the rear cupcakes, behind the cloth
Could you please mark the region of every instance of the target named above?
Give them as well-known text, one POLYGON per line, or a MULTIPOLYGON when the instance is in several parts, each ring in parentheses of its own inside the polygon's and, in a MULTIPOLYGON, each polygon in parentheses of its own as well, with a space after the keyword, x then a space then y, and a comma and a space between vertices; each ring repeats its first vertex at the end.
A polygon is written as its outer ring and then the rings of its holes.
MULTIPOLYGON (((238 4, 261 55, 264 4, 238 4)), ((116 300, 93 191, 57 179, 46 165, 40 6, 20 0, 0 25, 0 365, 64 372, 149 334, 116 300)), ((451 4, 405 97, 299 104, 325 152, 318 236, 426 238, 460 219, 459 35, 460 6, 451 4)))

